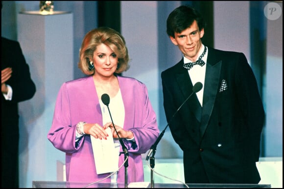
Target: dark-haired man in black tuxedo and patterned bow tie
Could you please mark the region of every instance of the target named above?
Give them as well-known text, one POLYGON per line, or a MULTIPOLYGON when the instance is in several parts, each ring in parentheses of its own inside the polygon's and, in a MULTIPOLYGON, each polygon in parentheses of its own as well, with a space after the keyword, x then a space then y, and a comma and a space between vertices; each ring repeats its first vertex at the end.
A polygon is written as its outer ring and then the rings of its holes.
POLYGON ((166 22, 182 60, 162 72, 164 108, 175 142, 183 150, 186 183, 257 184, 264 109, 256 78, 243 53, 202 44, 204 20, 180 6, 166 22), (190 65, 191 62, 201 65, 190 65), (188 63, 188 64, 187 64, 188 63), (202 89, 172 115, 193 92, 202 89))

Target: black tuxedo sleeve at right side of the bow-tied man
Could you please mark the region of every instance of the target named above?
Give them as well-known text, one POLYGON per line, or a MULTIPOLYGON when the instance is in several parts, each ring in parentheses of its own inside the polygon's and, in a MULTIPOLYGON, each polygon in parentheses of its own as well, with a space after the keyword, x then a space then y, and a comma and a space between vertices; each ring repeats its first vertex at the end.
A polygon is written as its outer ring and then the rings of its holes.
POLYGON ((236 67, 236 81, 238 102, 241 104, 247 130, 251 138, 251 149, 254 150, 255 161, 260 156, 260 136, 264 125, 264 108, 262 105, 257 80, 252 68, 247 62, 244 54, 241 53, 236 67))

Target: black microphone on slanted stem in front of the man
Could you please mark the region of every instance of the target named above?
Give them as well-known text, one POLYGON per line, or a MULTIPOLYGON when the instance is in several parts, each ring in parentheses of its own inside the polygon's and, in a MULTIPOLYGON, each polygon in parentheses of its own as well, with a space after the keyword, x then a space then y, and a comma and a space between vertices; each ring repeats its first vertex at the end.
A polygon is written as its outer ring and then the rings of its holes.
MULTIPOLYGON (((182 105, 179 106, 179 108, 176 110, 176 112, 173 114, 173 116, 171 117, 170 121, 168 122, 168 124, 166 125, 166 127, 170 124, 170 122, 172 121, 173 117, 177 114, 177 112, 180 110, 180 108, 189 100, 189 98, 193 95, 193 93, 197 93, 199 92, 203 87, 203 84, 200 82, 197 82, 196 84, 194 84, 194 86, 192 87, 192 93, 189 95, 189 97, 183 102, 182 105)), ((156 150, 156 147, 158 145, 158 143, 160 142, 160 140, 162 139, 165 131, 166 131, 166 127, 165 129, 161 132, 161 134, 159 135, 158 139, 156 140, 156 142, 152 145, 152 147, 150 148, 147 157, 146 157, 146 161, 148 161, 150 155, 153 153, 153 150, 156 150)))

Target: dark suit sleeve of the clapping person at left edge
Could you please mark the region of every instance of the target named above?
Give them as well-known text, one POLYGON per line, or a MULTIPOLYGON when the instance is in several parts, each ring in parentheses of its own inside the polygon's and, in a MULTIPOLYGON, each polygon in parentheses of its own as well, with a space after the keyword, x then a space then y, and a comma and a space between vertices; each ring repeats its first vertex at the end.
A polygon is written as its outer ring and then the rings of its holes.
POLYGON ((6 82, 13 90, 11 102, 18 103, 31 99, 36 92, 36 86, 31 79, 29 66, 25 61, 20 43, 8 41, 5 48, 7 58, 4 61, 7 61, 7 66, 12 67, 13 70, 11 78, 6 82))

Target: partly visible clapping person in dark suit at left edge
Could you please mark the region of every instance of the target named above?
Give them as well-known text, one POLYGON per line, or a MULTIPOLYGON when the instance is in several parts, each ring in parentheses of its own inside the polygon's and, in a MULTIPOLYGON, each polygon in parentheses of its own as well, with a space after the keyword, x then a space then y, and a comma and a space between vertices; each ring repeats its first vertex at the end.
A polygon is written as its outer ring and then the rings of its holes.
POLYGON ((1 92, 1 188, 19 188, 18 103, 31 99, 36 86, 30 77, 20 43, 3 37, 1 92))

